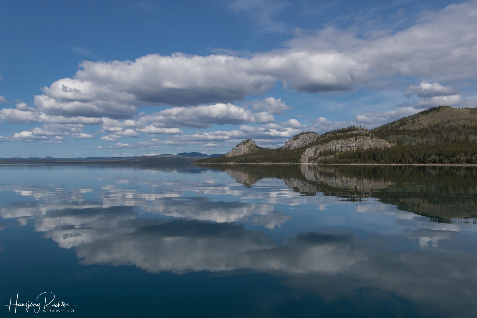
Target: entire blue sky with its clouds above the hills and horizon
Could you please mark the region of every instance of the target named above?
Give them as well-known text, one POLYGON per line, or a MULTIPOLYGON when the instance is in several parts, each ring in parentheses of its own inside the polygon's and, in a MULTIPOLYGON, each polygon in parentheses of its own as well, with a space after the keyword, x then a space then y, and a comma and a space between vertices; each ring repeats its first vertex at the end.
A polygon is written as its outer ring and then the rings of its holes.
POLYGON ((5 1, 0 157, 226 153, 477 105, 476 1, 5 1))

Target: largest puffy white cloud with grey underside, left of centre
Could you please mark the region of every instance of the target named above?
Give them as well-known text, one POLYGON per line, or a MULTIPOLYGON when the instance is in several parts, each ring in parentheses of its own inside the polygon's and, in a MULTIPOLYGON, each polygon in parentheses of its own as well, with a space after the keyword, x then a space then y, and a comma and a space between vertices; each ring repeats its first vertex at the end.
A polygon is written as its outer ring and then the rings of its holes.
POLYGON ((35 97, 41 111, 110 118, 131 117, 142 104, 231 102, 271 88, 276 81, 253 72, 245 58, 227 55, 150 54, 135 61, 82 62, 35 97), (232 76, 231 76, 232 75, 232 76))

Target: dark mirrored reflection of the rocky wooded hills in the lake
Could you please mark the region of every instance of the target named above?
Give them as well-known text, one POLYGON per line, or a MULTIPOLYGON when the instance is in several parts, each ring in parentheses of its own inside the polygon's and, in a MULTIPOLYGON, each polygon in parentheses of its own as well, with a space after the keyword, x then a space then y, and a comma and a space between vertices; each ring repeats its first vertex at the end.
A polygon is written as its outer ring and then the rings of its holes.
POLYGON ((204 164, 253 186, 278 178, 301 195, 376 198, 399 210, 448 223, 477 216, 477 169, 473 166, 204 164))

